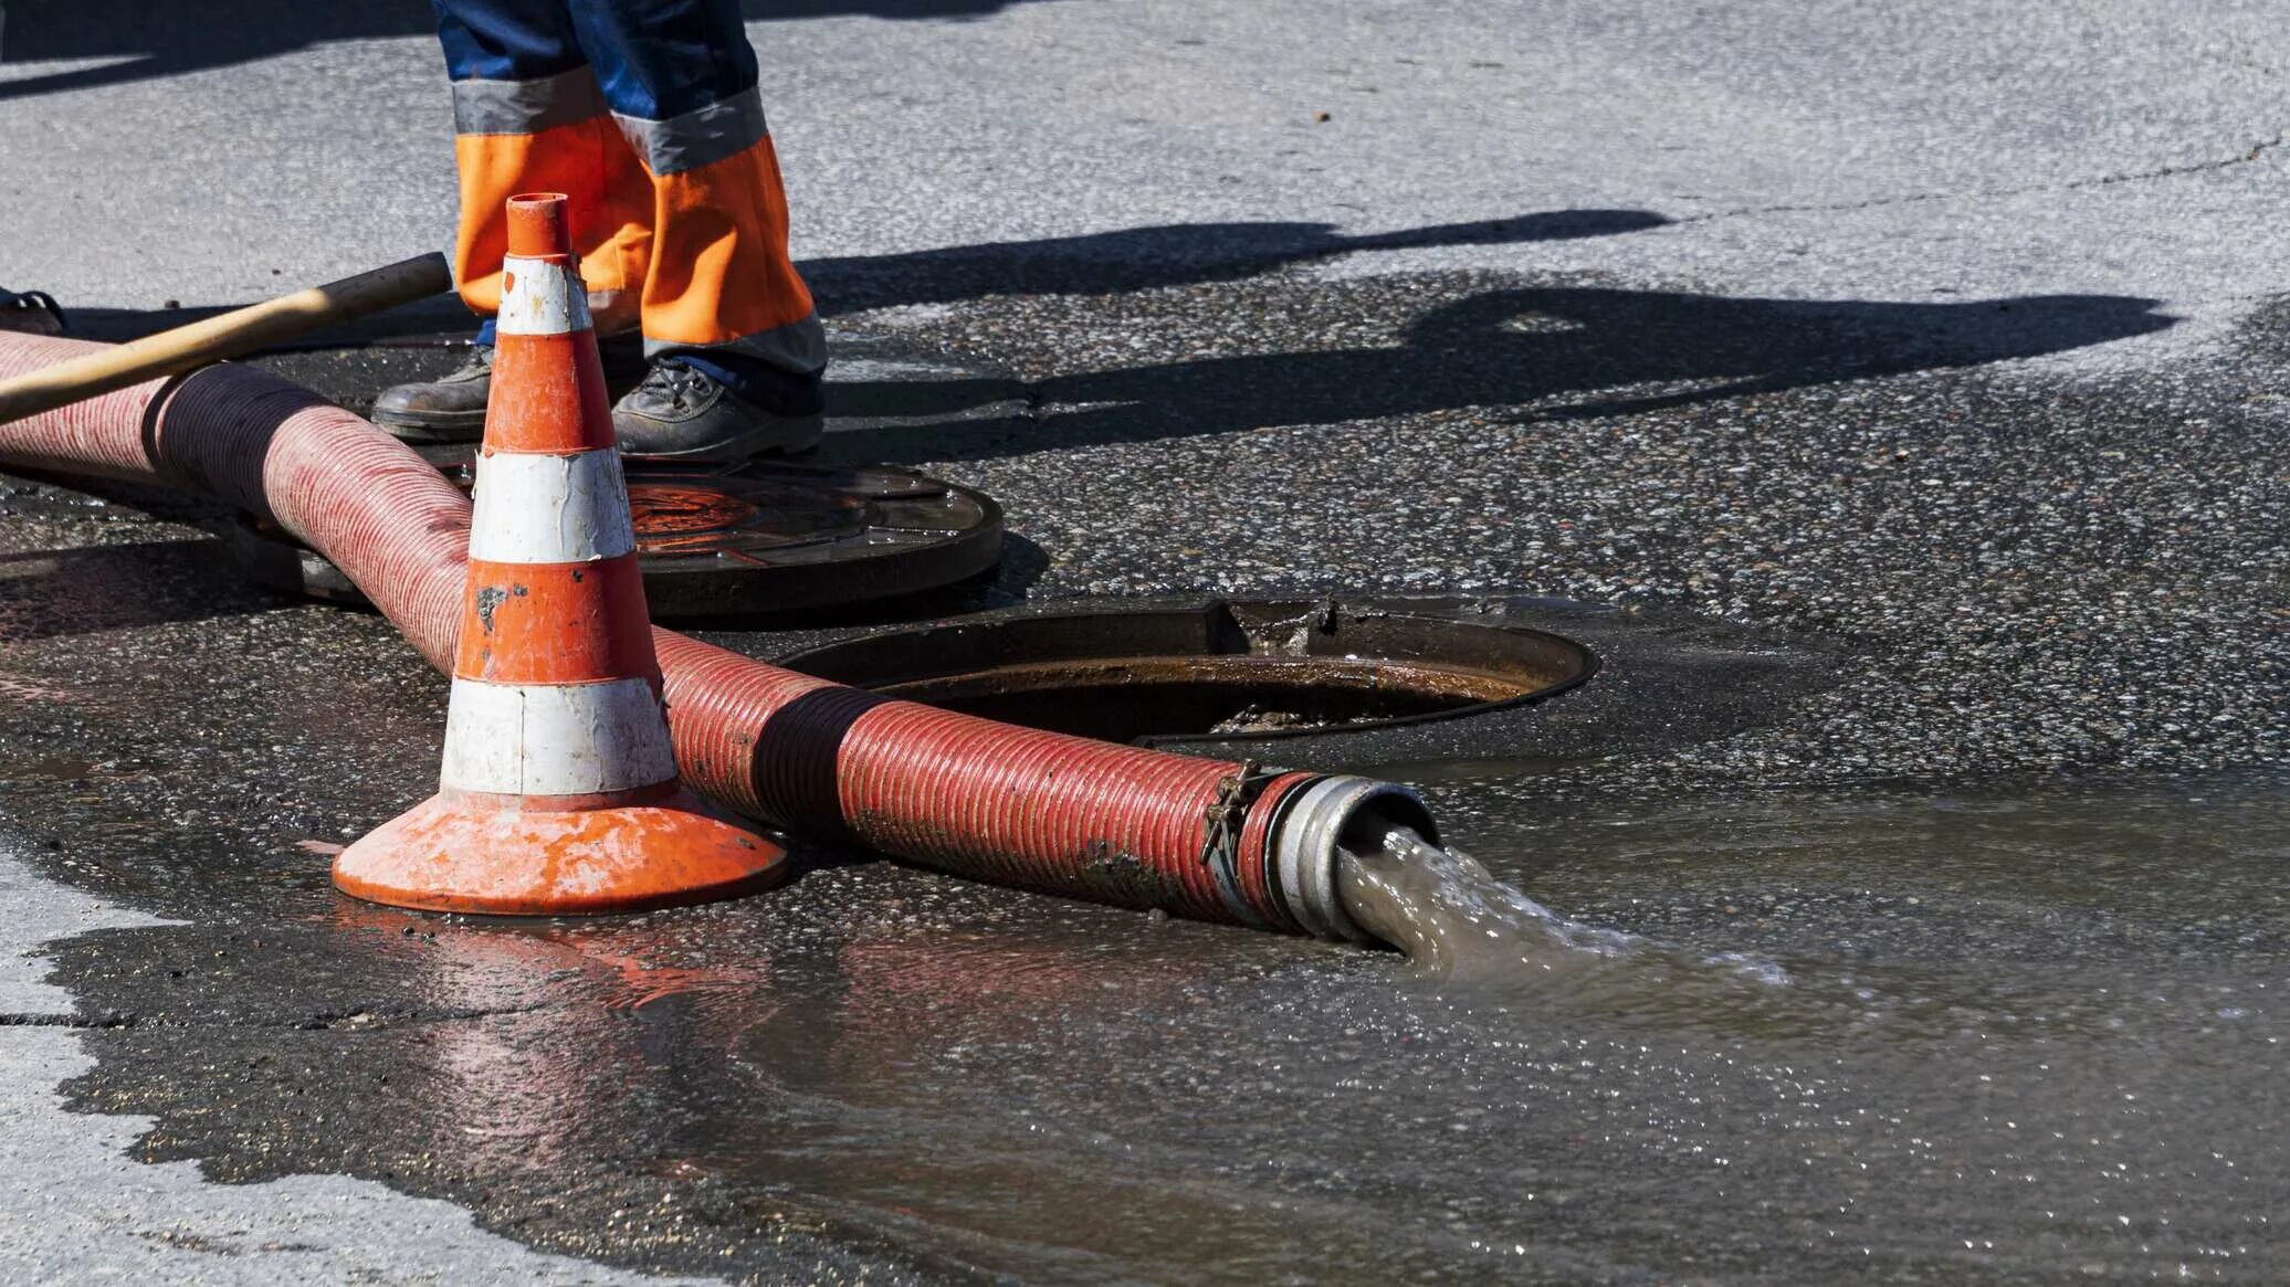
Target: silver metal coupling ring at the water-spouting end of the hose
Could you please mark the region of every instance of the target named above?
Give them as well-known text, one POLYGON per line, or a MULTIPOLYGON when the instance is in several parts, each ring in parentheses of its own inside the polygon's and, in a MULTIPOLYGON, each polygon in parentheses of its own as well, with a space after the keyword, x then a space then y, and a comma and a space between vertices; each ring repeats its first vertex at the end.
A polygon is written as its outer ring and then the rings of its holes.
POLYGON ((1273 879, 1289 916, 1321 939, 1381 943, 1337 895, 1342 854, 1374 854, 1395 829, 1438 843, 1438 822, 1413 788, 1333 774, 1287 792, 1271 820, 1273 879))

